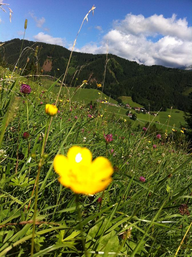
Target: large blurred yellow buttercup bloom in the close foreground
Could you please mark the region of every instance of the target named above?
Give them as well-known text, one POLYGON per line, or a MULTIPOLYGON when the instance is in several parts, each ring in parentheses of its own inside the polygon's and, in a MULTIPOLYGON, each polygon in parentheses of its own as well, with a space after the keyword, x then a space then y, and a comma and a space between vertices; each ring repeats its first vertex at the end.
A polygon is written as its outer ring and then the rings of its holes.
POLYGON ((59 182, 77 194, 95 194, 104 190, 111 182, 113 167, 102 156, 92 161, 89 149, 72 146, 67 156, 56 155, 53 160, 59 182))

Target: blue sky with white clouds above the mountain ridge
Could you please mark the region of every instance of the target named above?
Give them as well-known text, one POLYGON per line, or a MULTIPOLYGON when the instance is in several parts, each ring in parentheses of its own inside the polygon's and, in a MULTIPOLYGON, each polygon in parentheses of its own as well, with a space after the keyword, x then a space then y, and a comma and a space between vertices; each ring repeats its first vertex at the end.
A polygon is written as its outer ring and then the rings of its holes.
MULTIPOLYGON (((0 1, 2 2, 2 1, 0 1)), ((23 38, 71 48, 81 22, 95 5, 78 36, 76 51, 110 53, 146 65, 192 64, 191 0, 4 0, 13 10, 0 10, 0 41, 23 38)))

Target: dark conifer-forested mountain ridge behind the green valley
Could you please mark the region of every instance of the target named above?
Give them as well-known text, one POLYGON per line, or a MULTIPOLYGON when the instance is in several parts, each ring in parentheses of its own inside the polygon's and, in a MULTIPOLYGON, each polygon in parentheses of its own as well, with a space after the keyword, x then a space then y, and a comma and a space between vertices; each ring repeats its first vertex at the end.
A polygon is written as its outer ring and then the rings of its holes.
MULTIPOLYGON (((22 40, 5 42, 1 48, 1 61, 15 65, 21 49, 22 40)), ((25 75, 31 70, 44 75, 61 76, 67 67, 70 51, 65 47, 24 40, 23 55, 18 68, 25 67, 25 75), (37 47, 38 46, 38 47, 37 47), (27 57, 29 62, 27 63, 27 57), (36 65, 38 59, 38 65, 36 65), (58 70, 59 69, 59 70, 58 70)), ((192 71, 172 69, 160 65, 139 65, 116 55, 108 54, 107 70, 103 92, 114 99, 119 96, 132 96, 133 101, 144 105, 146 109, 157 111, 166 108, 188 111, 192 104, 192 71)), ((73 52, 66 83, 80 85, 88 80, 87 87, 103 85, 105 54, 87 54, 73 52), (78 71, 77 71, 78 70, 78 71), (80 72, 79 72, 80 70, 80 72), (77 71, 77 73, 76 73, 77 71), (75 75, 75 76, 74 76, 75 75), (74 76, 74 79, 73 79, 74 76), (75 78, 78 76, 78 83, 75 78)))

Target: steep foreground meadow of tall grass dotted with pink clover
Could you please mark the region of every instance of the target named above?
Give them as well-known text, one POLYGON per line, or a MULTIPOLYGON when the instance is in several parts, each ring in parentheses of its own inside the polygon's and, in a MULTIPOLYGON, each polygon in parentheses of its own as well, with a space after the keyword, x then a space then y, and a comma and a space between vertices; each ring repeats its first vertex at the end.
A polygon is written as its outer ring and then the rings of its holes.
MULTIPOLYGON (((152 128, 138 130, 97 116, 97 109, 83 104, 72 103, 69 111, 69 102, 60 98, 60 113, 51 121, 45 104, 55 102, 54 85, 42 93, 29 80, 32 91, 25 97, 19 92, 22 79, 1 81, 0 256, 30 255, 34 212, 33 256, 96 256, 95 251, 101 256, 174 256, 183 238, 178 256, 191 256, 191 233, 185 235, 191 226, 191 155, 185 135, 177 133, 175 140, 175 132, 167 138, 162 133, 158 139, 152 128), (12 99, 19 95, 20 105, 12 99), (50 130, 40 158, 46 124, 50 130), (104 134, 113 140, 106 144, 104 134), (76 195, 58 182, 53 159, 75 145, 87 147, 93 158, 110 160, 113 181, 103 194, 76 195)), ((99 113, 105 113, 102 105, 99 113)), ((106 172, 105 165, 95 169, 95 177, 106 172)))

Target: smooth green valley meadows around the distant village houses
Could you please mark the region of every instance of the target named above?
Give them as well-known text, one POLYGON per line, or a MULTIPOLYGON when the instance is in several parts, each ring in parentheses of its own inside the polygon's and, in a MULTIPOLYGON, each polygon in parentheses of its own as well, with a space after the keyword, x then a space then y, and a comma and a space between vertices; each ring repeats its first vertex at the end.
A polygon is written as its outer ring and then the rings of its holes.
MULTIPOLYGON (((44 85, 46 87, 50 86, 52 81, 44 81, 44 85)), ((59 86, 60 84, 57 83, 59 86)), ((59 87, 54 87, 54 93, 59 92, 59 87)), ((71 101, 77 101, 82 103, 89 103, 90 101, 93 101, 93 103, 101 97, 98 93, 101 93, 98 89, 87 89, 87 88, 74 88, 74 87, 63 87, 61 90, 61 95, 65 95, 66 97, 71 98, 71 101), (69 90, 69 93, 68 93, 69 90), (76 91, 76 93, 75 93, 76 91)), ((102 93, 102 99, 106 98, 107 101, 110 103, 117 104, 117 101, 110 98, 109 96, 102 93)), ((131 107, 143 107, 142 105, 137 104, 136 102, 133 102, 131 97, 127 96, 121 96, 119 97, 124 104, 129 103, 131 107)), ((99 105, 99 103, 98 103, 99 105)), ((125 109, 121 106, 111 106, 107 104, 100 104, 101 110, 103 113, 106 113, 105 115, 109 115, 109 117, 115 113, 116 119, 126 119, 127 121, 131 121, 134 126, 137 126, 138 124, 141 124, 141 126, 144 126, 146 122, 150 122, 151 125, 155 124, 157 128, 161 128, 163 130, 171 131, 173 127, 179 129, 180 123, 183 125, 185 124, 185 120, 183 118, 183 111, 177 110, 177 109, 167 109, 167 111, 161 111, 158 113, 158 115, 155 117, 151 114, 143 114, 143 113, 136 113, 133 109, 125 109), (129 117, 127 117, 126 112, 131 111, 131 113, 136 113, 137 115, 137 121, 132 121, 129 117), (168 115, 171 113, 171 118, 169 119, 168 115), (158 121, 159 123, 156 123, 158 121)), ((157 113, 157 111, 155 111, 157 113)))

